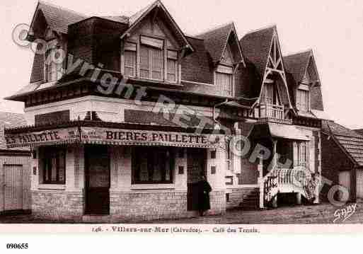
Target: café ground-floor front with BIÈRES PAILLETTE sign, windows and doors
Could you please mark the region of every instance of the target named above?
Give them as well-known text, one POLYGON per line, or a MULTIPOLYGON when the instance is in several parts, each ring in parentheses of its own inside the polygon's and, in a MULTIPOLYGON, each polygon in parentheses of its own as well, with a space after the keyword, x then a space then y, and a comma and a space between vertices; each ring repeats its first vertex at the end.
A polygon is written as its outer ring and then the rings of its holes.
POLYGON ((214 187, 221 185, 211 193, 211 212, 222 212, 218 200, 224 195, 224 175, 219 174, 224 171, 215 168, 226 161, 224 134, 212 130, 199 134, 180 127, 113 123, 107 125, 110 128, 83 123, 6 130, 8 147, 33 149, 35 216, 189 217, 196 209, 192 183, 202 173, 215 182, 214 187), (214 171, 207 172, 211 166, 214 171))

